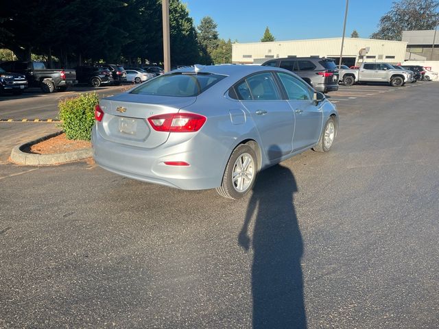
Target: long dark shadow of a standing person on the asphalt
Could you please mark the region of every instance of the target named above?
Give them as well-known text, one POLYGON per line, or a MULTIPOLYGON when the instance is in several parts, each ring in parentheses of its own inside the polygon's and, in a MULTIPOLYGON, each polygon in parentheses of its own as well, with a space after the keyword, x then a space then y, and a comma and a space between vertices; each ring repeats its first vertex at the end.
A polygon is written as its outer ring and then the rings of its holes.
POLYGON ((238 243, 246 251, 251 243, 254 252, 253 328, 307 328, 303 243, 293 203, 297 191, 294 175, 279 164, 262 171, 252 191, 238 243))

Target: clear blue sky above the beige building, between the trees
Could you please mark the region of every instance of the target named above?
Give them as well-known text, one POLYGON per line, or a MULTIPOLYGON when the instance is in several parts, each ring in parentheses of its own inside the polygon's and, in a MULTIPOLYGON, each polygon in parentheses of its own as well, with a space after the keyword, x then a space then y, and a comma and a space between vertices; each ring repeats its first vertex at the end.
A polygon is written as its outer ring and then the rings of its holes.
MULTIPOLYGON (((187 4, 195 25, 204 16, 211 16, 218 25, 219 38, 238 42, 259 42, 267 26, 279 41, 341 37, 346 6, 345 0, 182 2, 187 4)), ((346 36, 356 29, 360 38, 368 38, 391 7, 392 0, 349 1, 346 36)))

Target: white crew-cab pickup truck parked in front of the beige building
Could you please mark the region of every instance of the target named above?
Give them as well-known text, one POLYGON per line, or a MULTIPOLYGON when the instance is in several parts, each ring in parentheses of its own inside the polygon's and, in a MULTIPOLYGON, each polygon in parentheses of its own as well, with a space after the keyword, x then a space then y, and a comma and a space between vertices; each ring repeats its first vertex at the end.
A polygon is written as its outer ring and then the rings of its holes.
POLYGON ((405 82, 412 82, 413 73, 395 69, 388 63, 362 63, 359 69, 339 69, 339 80, 346 86, 356 82, 388 82, 400 87, 405 82))

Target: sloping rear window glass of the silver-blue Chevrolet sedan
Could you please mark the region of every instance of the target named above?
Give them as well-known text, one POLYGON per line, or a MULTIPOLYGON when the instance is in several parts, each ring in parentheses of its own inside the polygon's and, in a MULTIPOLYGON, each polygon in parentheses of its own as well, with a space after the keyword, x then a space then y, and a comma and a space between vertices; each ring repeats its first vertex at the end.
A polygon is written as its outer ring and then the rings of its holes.
POLYGON ((174 73, 161 75, 149 82, 143 83, 131 91, 132 94, 160 95, 175 97, 192 97, 200 95, 204 90, 210 88, 225 75, 212 73, 174 73))

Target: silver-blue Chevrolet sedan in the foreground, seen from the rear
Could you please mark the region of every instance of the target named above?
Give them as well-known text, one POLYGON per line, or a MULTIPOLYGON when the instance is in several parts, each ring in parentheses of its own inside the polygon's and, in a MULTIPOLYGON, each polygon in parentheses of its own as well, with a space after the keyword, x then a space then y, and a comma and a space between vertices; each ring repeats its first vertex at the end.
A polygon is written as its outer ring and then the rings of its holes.
POLYGON ((329 151, 333 103, 272 66, 179 69, 95 108, 93 156, 128 178, 175 188, 248 193, 257 172, 307 149, 329 151))

